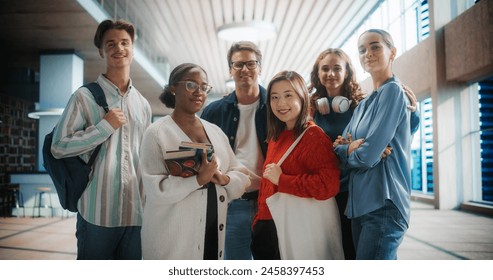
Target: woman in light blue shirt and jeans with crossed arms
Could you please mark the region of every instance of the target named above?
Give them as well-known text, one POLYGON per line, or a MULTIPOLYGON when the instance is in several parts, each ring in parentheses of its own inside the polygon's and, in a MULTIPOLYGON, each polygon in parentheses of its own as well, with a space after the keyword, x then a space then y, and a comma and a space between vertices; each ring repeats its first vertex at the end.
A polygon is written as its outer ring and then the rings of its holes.
POLYGON ((392 73, 396 48, 389 33, 364 32, 358 50, 374 90, 334 142, 342 168, 349 171, 346 214, 356 259, 396 259, 410 216, 410 101, 392 73), (387 147, 392 152, 382 157, 387 147))

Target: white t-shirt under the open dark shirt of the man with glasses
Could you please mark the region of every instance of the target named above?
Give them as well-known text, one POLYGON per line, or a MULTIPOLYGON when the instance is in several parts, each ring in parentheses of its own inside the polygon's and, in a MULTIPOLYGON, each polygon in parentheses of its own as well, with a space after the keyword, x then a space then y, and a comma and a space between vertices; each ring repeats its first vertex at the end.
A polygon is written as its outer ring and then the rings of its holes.
POLYGON ((255 112, 259 105, 259 100, 252 104, 238 104, 240 119, 238 130, 236 131, 235 154, 238 160, 250 170, 250 180, 252 184, 247 188, 247 192, 258 190, 260 178, 264 164, 264 156, 257 139, 255 129, 255 112))

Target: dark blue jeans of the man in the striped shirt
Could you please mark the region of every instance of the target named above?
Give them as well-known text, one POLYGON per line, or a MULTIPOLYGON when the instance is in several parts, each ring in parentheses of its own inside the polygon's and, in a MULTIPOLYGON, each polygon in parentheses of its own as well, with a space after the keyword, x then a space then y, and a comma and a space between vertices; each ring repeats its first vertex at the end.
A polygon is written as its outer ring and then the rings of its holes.
POLYGON ((141 260, 142 227, 101 227, 77 213, 78 260, 141 260))

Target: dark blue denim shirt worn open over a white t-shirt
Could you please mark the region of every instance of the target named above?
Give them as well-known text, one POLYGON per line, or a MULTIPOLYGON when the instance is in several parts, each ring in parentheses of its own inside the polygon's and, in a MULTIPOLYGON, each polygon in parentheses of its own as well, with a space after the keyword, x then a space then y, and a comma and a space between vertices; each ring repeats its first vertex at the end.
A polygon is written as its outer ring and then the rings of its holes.
MULTIPOLYGON (((265 104, 267 92, 260 85, 259 90, 260 100, 257 112, 255 113, 255 127, 260 149, 265 158, 267 154, 267 106, 265 104)), ((238 130, 238 121, 240 119, 236 91, 207 105, 200 117, 219 126, 228 136, 229 144, 234 150, 236 131, 238 130)))

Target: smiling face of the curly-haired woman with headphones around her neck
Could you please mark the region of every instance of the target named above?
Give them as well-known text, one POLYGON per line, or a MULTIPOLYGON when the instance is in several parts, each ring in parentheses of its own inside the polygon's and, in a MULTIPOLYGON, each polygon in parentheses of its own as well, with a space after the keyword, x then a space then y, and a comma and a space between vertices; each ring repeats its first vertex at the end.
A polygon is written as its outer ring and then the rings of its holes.
POLYGON ((318 79, 329 96, 341 95, 341 87, 348 76, 346 71, 347 62, 335 53, 327 54, 319 62, 318 79))

